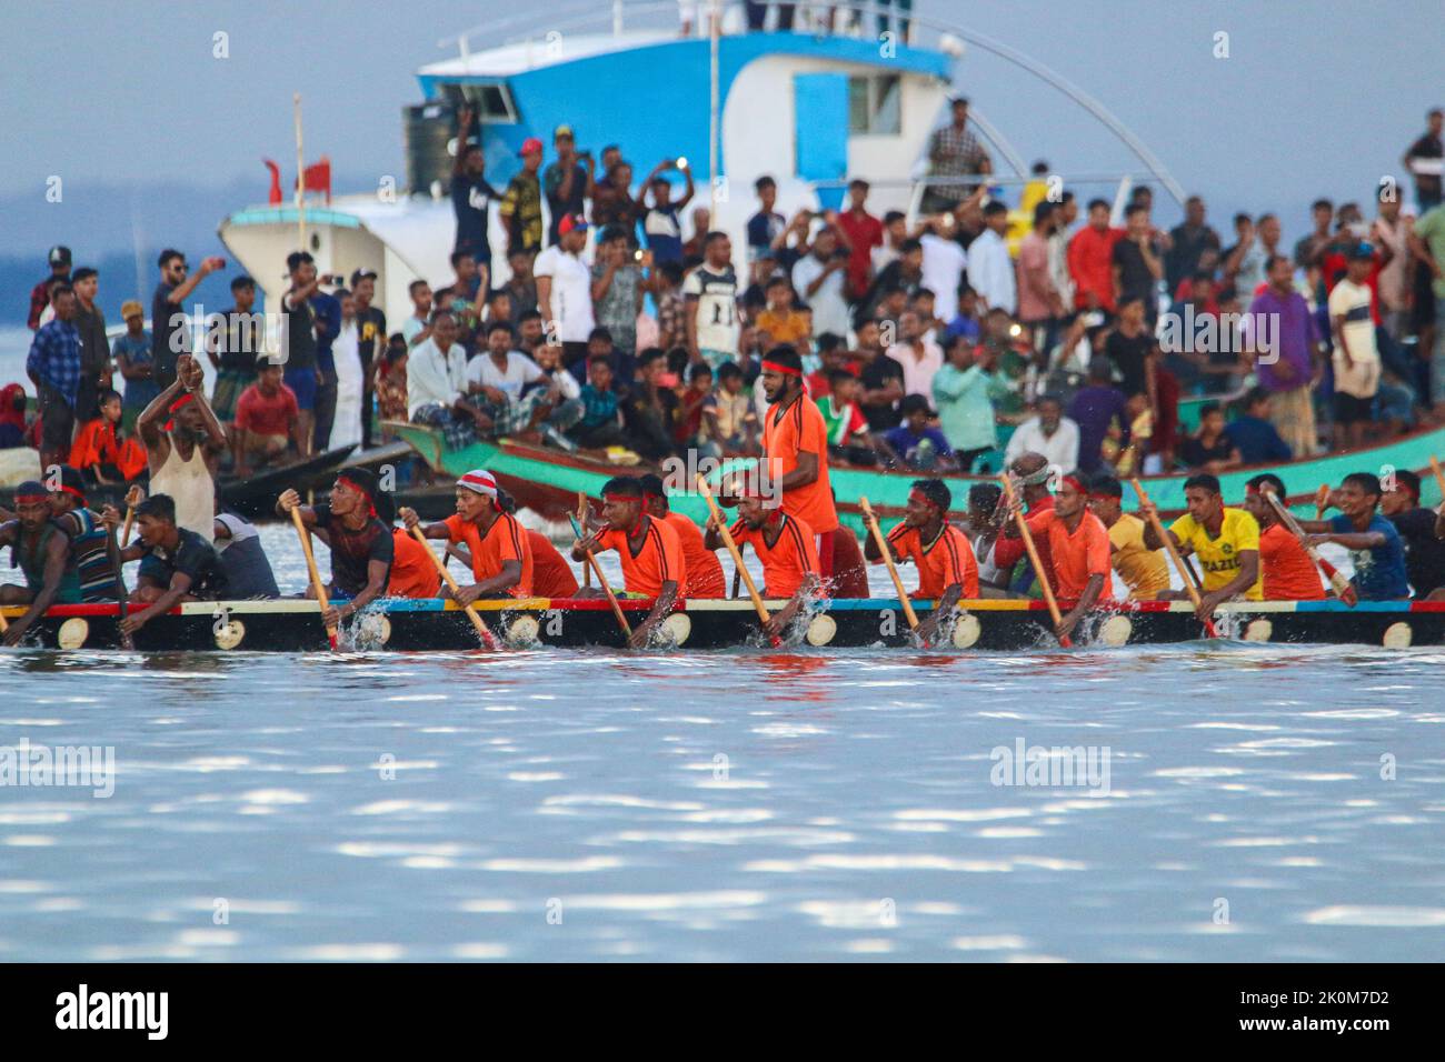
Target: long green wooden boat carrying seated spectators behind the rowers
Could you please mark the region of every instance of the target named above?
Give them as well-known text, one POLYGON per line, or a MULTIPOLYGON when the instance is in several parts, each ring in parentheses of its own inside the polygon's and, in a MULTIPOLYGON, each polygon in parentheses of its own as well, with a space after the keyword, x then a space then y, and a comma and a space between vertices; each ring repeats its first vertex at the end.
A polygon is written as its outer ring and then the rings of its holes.
MULTIPOLYGON (((396 422, 389 422, 386 428, 410 444, 438 474, 458 477, 473 468, 486 468, 497 477, 506 490, 516 496, 520 506, 536 510, 551 520, 564 520, 566 513, 575 511, 579 491, 590 498, 601 497, 603 484, 614 475, 662 471, 646 464, 613 464, 595 452, 565 454, 559 449, 510 439, 475 442, 462 449, 448 449, 441 432, 431 428, 396 422)), ((1285 481, 1290 509, 1299 516, 1314 519, 1314 497, 1321 484, 1338 485, 1340 480, 1350 472, 1368 471, 1386 475, 1392 470, 1409 470, 1422 475, 1425 494, 1422 501, 1432 506, 1441 501, 1441 493, 1429 471, 1433 454, 1445 454, 1445 428, 1402 435, 1389 444, 1355 452, 1327 454, 1283 465, 1260 465, 1225 472, 1220 477, 1220 483, 1224 487, 1225 500, 1238 504, 1244 497, 1244 484, 1251 477, 1266 471, 1274 472, 1285 481)), ((728 461, 708 478, 717 481, 730 468, 750 464, 753 464, 750 458, 728 461)), ((860 497, 868 498, 880 514, 902 516, 907 504, 909 484, 919 477, 918 472, 910 471, 889 472, 838 465, 831 467, 828 475, 838 500, 840 519, 858 535, 864 530, 858 509, 860 497)), ((955 510, 964 509, 968 487, 987 481, 987 477, 980 475, 955 474, 941 478, 954 490, 955 510)), ((1186 478, 1183 474, 1147 475, 1143 483, 1144 490, 1149 491, 1160 511, 1182 513, 1185 510, 1183 481, 1186 478)), ((1127 493, 1131 494, 1131 491, 1127 493)), ((1126 507, 1130 507, 1131 501, 1137 501, 1137 498, 1126 497, 1124 501, 1126 507)), ((672 494, 672 507, 698 523, 707 520, 707 503, 701 494, 672 494)))

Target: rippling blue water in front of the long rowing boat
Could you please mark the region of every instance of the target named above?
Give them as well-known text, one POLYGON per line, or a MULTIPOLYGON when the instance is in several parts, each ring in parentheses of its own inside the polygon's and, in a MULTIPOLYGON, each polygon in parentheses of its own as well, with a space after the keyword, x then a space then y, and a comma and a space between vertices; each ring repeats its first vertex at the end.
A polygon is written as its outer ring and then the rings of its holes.
POLYGON ((1433 959, 1442 665, 0 652, 0 959, 1433 959))

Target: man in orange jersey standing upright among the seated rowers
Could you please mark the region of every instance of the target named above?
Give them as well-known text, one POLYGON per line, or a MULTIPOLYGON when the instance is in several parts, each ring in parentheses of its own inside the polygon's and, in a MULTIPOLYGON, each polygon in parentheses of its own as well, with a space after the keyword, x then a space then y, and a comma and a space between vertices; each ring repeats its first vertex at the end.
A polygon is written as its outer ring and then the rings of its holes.
POLYGON ((773 347, 763 358, 763 472, 782 493, 783 511, 816 536, 821 572, 834 597, 867 597, 868 574, 853 532, 838 523, 828 483, 828 428, 803 387, 803 363, 792 347, 773 347))

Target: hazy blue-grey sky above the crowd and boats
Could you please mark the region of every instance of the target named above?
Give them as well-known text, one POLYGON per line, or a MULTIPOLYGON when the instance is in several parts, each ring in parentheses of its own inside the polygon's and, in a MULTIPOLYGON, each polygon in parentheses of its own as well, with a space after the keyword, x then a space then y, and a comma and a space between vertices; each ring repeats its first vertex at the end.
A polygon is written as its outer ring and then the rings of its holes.
MULTIPOLYGON (((1311 198, 1367 198, 1445 97, 1439 0, 916 1, 1084 87, 1205 194, 1217 224, 1225 211, 1274 210, 1298 234, 1311 198), (1217 32, 1230 35, 1227 59, 1212 55, 1217 32)), ((400 108, 419 100, 415 68, 448 55, 438 38, 516 10, 500 0, 6 4, 0 204, 26 221, 48 217, 30 211, 49 208, 51 175, 66 181, 68 199, 237 179, 263 199, 262 156, 293 170, 293 91, 306 101, 308 159, 331 156, 338 191, 374 188, 381 173, 405 179, 400 108), (212 58, 218 30, 228 59, 212 58)), ((512 33, 481 35, 474 48, 512 33)), ((1065 175, 1134 165, 1053 90, 978 49, 959 82, 1029 159, 1065 175)), ((35 250, 6 244, 0 254, 35 250)))

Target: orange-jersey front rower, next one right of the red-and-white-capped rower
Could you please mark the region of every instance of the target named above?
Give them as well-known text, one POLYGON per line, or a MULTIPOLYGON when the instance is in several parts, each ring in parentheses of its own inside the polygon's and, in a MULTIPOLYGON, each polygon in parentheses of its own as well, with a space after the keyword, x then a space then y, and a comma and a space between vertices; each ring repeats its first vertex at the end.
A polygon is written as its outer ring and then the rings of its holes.
MULTIPOLYGON (((629 594, 653 598, 652 611, 633 627, 633 649, 642 649, 662 623, 686 585, 688 565, 678 533, 643 510, 642 483, 618 475, 603 484, 603 520, 605 524, 572 546, 572 559, 587 553, 616 549, 623 565, 623 585, 629 594)), ((601 590, 582 590, 578 597, 597 597, 601 590)))

